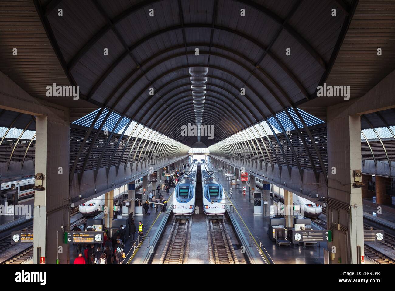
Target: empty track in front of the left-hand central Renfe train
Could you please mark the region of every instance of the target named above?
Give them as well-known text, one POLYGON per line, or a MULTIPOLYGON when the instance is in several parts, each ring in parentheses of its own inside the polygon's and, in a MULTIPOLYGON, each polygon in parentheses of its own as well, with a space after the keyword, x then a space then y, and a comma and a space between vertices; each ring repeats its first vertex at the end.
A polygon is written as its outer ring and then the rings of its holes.
POLYGON ((161 264, 186 264, 192 228, 190 219, 174 219, 170 235, 160 258, 161 264))

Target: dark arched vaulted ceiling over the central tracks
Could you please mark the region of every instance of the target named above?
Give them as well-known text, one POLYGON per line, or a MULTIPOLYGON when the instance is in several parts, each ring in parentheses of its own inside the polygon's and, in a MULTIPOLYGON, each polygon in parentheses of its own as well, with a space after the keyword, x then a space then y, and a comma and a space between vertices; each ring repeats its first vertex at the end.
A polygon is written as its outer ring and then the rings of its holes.
POLYGON ((82 99, 186 145, 200 140, 210 146, 314 99, 357 1, 34 4, 61 67, 70 84, 79 86, 82 99), (183 136, 182 125, 188 123, 213 125, 213 139, 183 136))

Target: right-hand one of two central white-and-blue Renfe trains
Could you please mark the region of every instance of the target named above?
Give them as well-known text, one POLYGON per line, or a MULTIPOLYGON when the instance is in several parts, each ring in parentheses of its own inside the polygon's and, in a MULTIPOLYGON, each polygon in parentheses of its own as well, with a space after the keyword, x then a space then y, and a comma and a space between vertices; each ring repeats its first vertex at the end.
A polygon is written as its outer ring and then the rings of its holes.
POLYGON ((223 216, 226 211, 224 187, 215 177, 211 177, 209 166, 204 159, 201 159, 200 167, 204 213, 210 216, 223 216))

